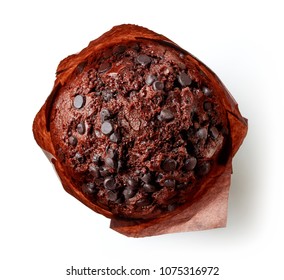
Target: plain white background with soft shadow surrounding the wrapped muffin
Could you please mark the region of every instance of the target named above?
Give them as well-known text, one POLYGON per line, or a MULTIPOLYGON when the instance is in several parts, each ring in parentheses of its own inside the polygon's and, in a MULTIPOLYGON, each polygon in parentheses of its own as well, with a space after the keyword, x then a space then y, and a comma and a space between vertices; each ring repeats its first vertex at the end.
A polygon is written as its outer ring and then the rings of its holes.
MULTIPOLYGON (((1 1, 0 278, 71 277, 106 266, 219 266, 220 276, 281 279, 284 249, 282 1, 1 1), (32 121, 61 59, 112 26, 169 37, 214 70, 249 119, 234 158, 226 228, 134 239, 64 192, 32 121), (282 259, 282 260, 281 260, 282 259)), ((158 274, 141 279, 168 279, 158 274)), ((140 279, 134 277, 133 279, 140 279)), ((282 278, 283 279, 283 278, 282 278)))

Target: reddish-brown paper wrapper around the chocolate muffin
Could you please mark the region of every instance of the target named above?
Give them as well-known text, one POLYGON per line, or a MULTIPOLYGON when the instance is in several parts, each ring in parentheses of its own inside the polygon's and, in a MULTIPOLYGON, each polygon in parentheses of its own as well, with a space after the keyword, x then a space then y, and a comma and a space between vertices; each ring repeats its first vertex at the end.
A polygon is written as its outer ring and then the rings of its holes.
POLYGON ((38 112, 33 123, 33 133, 38 145, 54 164, 64 189, 92 210, 111 219, 110 227, 117 232, 131 237, 145 237, 166 233, 205 230, 224 227, 227 220, 228 193, 232 174, 232 158, 239 149, 247 133, 247 120, 239 112, 238 105, 219 78, 202 62, 181 49, 168 38, 136 25, 120 25, 112 28, 80 53, 62 60, 57 69, 54 88, 46 102, 38 112), (194 201, 178 207, 173 212, 149 221, 125 220, 116 218, 109 211, 90 202, 66 175, 63 166, 56 158, 49 131, 49 117, 56 94, 65 84, 68 77, 89 55, 102 48, 136 39, 153 40, 172 46, 186 53, 188 59, 198 64, 200 69, 214 83, 214 92, 219 94, 223 106, 227 110, 230 128, 230 147, 227 149, 226 165, 218 166, 209 173, 194 201))

